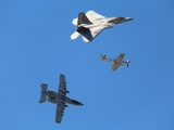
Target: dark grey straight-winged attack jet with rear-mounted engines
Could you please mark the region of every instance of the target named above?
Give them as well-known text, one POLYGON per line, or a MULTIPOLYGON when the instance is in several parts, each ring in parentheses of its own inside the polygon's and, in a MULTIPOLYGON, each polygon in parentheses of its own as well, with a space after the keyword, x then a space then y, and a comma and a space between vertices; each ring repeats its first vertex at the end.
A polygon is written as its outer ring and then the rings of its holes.
POLYGON ((83 106, 80 102, 76 100, 72 100, 66 96, 66 93, 70 93, 66 90, 66 81, 65 81, 65 76, 60 75, 60 81, 59 81, 59 90, 58 92, 48 90, 47 87, 48 84, 41 83, 41 93, 40 93, 40 100, 39 103, 46 102, 46 96, 48 96, 47 101, 53 104, 57 104, 57 113, 55 113, 55 122, 61 123, 62 116, 64 108, 67 107, 66 103, 73 104, 76 106, 83 106))

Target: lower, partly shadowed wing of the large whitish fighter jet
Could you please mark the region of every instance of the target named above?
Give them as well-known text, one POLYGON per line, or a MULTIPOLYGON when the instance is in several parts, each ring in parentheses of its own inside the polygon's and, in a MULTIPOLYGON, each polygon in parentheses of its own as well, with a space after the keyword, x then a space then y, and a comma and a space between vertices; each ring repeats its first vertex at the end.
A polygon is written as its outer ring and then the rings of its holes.
POLYGON ((85 42, 90 42, 90 41, 92 41, 102 30, 103 30, 103 28, 102 28, 101 26, 92 27, 92 28, 90 28, 90 29, 86 28, 86 29, 82 32, 83 40, 84 40, 85 42))

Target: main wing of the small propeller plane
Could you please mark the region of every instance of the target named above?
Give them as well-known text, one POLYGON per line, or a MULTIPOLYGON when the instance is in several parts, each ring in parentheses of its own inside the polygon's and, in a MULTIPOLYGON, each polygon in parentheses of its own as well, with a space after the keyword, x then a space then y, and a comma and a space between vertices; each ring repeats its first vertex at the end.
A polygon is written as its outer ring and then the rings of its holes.
POLYGON ((116 70, 117 69, 117 67, 122 64, 123 57, 124 57, 124 53, 121 53, 116 57, 116 60, 114 60, 114 62, 112 63, 112 70, 116 70))

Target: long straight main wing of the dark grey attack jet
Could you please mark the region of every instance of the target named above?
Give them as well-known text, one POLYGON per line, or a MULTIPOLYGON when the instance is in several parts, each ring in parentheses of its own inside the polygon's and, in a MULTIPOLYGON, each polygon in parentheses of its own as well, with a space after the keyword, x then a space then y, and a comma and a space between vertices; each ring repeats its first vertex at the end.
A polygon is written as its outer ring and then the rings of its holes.
POLYGON ((57 103, 57 113, 55 113, 55 122, 61 123, 65 105, 65 99, 66 99, 66 82, 65 82, 65 76, 60 75, 60 81, 59 81, 59 93, 58 93, 58 103, 57 103))

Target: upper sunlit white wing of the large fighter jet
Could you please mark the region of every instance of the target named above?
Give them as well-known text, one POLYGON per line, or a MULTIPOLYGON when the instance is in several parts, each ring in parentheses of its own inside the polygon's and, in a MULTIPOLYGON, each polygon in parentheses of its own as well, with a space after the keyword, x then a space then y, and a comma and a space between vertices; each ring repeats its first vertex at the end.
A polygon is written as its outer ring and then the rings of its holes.
POLYGON ((90 22, 97 21, 98 18, 104 18, 101 14, 96 13, 95 11, 88 11, 86 16, 89 18, 90 22))

